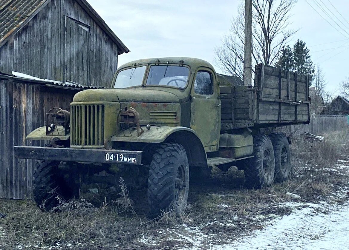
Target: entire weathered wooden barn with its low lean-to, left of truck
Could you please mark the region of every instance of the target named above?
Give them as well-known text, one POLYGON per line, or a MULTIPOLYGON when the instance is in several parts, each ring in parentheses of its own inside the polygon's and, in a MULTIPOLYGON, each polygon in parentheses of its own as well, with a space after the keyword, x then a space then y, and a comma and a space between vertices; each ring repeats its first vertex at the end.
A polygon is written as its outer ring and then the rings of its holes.
POLYGON ((43 146, 25 137, 44 126, 46 112, 109 86, 127 52, 85 0, 0 0, 0 198, 32 198, 34 161, 13 158, 13 146, 43 146))

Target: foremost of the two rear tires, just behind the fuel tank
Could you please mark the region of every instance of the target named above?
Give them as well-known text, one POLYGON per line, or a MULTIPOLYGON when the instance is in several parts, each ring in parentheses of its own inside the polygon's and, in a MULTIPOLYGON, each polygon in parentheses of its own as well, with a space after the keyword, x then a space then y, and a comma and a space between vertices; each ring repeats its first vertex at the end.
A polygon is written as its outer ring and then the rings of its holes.
POLYGON ((269 187, 274 182, 275 157, 266 135, 253 136, 253 158, 243 161, 246 184, 251 188, 269 187))

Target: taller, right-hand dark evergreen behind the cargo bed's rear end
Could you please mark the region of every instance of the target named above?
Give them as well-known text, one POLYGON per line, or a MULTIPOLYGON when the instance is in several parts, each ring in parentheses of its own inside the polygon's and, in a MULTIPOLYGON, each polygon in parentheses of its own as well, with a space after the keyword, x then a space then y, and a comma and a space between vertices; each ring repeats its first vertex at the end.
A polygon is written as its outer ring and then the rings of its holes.
POLYGON ((309 54, 309 48, 305 46, 305 42, 297 40, 293 46, 294 71, 300 74, 309 75, 309 82, 314 79, 315 67, 309 54))

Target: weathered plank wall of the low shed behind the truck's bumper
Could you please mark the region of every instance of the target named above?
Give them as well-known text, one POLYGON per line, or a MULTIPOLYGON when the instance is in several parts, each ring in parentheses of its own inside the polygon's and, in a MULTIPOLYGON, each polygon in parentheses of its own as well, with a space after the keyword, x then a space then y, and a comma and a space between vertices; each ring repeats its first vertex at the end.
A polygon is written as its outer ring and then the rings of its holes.
POLYGON ((43 146, 44 142, 26 142, 25 136, 44 126, 48 109, 69 110, 76 92, 0 80, 0 198, 32 198, 35 161, 13 158, 13 146, 43 146))

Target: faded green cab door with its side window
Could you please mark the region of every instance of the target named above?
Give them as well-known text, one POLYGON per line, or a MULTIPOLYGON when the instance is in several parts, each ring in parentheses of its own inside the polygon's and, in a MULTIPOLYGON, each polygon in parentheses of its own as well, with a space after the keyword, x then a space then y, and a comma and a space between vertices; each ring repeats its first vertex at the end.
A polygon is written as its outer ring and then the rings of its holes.
POLYGON ((218 150, 221 131, 221 100, 214 72, 198 68, 191 90, 190 127, 198 133, 206 152, 218 150))

